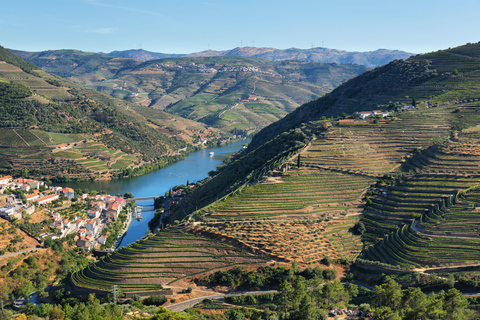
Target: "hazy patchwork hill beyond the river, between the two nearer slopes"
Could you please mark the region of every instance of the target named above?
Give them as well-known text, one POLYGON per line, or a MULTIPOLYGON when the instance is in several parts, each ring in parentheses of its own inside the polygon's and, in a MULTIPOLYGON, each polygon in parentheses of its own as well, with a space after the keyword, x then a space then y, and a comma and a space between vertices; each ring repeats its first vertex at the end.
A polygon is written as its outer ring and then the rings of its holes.
POLYGON ((97 91, 232 133, 261 129, 367 70, 351 64, 247 57, 140 63, 75 50, 14 52, 97 91))

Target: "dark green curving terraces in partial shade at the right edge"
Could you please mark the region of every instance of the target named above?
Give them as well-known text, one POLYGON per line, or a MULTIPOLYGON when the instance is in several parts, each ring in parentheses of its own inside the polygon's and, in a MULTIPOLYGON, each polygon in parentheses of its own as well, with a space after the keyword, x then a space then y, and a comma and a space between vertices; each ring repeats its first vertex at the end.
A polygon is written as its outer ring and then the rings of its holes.
POLYGON ((362 219, 364 241, 380 241, 362 258, 407 269, 479 264, 477 148, 443 142, 412 157, 405 166, 428 173, 398 181, 372 199, 362 219))

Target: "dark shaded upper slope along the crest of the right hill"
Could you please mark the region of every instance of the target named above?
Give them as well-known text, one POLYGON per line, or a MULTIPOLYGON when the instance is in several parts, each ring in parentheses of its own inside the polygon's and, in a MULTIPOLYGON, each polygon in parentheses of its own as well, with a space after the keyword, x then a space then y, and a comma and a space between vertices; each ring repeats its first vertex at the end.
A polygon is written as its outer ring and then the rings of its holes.
POLYGON ((395 60, 365 72, 268 126, 252 145, 259 146, 278 132, 322 116, 393 107, 408 104, 412 98, 423 101, 423 105, 478 98, 478 48, 479 44, 467 44, 413 56, 406 61, 395 60))

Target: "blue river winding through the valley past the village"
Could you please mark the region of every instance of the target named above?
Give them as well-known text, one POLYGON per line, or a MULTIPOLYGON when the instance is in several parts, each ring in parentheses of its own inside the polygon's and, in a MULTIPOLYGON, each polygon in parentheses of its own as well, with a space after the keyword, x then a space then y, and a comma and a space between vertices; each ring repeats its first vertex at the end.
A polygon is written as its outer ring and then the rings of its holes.
MULTIPOLYGON (((240 150, 242 145, 247 142, 250 142, 250 140, 235 141, 220 148, 192 152, 179 162, 140 177, 112 181, 56 183, 55 185, 68 186, 74 190, 78 188, 96 191, 105 190, 110 195, 123 195, 126 192, 131 192, 135 198, 163 196, 170 188, 186 184, 187 180, 192 183, 206 178, 209 171, 214 170, 227 156, 240 150), (215 154, 211 156, 210 152, 215 154)), ((140 221, 132 220, 120 246, 135 242, 143 237, 148 230, 148 221, 152 219, 155 213, 153 201, 139 201, 138 205, 143 207, 143 219, 140 221)))

